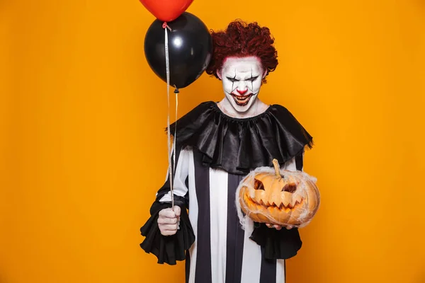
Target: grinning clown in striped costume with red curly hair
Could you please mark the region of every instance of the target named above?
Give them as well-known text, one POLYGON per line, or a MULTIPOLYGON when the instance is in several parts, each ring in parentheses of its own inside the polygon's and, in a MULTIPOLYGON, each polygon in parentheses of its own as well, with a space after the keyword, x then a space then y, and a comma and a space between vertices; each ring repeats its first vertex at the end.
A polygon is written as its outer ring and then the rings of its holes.
POLYGON ((254 221, 242 229, 236 190, 273 158, 282 169, 302 171, 312 137, 286 108, 259 100, 278 65, 268 28, 234 21, 212 32, 212 41, 207 73, 222 81, 225 97, 200 103, 177 121, 175 206, 167 180, 140 246, 159 263, 186 260, 186 282, 285 282, 285 260, 302 245, 298 229, 254 221))

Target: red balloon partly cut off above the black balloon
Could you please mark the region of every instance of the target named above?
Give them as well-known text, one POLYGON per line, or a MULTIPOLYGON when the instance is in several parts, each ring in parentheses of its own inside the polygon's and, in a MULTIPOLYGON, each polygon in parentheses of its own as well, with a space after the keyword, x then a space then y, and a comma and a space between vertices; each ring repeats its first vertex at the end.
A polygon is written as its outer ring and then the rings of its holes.
POLYGON ((140 0, 140 2, 158 20, 171 22, 179 18, 188 6, 191 6, 193 0, 140 0))

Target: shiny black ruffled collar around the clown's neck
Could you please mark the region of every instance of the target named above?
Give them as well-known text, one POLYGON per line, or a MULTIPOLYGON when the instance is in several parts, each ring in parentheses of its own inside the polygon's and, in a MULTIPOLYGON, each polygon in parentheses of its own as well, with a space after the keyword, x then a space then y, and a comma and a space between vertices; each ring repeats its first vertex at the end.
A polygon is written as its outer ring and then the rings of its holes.
POLYGON ((191 146, 203 154, 203 164, 228 173, 245 175, 261 166, 280 164, 312 148, 312 137, 281 105, 249 118, 225 115, 217 103, 208 101, 173 123, 178 148, 191 146))

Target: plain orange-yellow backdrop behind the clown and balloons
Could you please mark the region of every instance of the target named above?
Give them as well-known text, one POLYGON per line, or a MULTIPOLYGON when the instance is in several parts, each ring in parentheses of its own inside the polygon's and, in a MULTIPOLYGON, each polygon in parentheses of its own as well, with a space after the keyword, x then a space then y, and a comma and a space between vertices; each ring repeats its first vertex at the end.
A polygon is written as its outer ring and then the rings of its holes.
MULTIPOLYGON (((425 282, 425 2, 203 1, 259 21, 280 65, 261 98, 312 134, 322 206, 289 283, 425 282), (260 4, 263 4, 261 6, 260 4)), ((137 0, 0 1, 0 282, 183 282, 140 226, 166 171, 166 88, 137 0)), ((179 116, 222 98, 204 74, 179 116)))

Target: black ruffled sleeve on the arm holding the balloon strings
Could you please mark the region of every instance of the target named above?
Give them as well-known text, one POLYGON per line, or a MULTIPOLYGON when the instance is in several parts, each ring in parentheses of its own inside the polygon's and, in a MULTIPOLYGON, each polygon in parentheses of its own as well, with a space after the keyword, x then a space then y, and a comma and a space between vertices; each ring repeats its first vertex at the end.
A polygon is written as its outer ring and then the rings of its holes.
MULTIPOLYGON (((179 158, 176 155, 177 164, 179 158)), ((177 170, 176 170, 177 171, 177 170)), ((183 183, 186 183, 187 176, 177 175, 174 178, 183 178, 183 183)), ((164 262, 169 265, 176 265, 177 260, 185 260, 186 250, 188 250, 195 241, 195 234, 189 221, 188 216, 188 193, 185 197, 174 195, 174 205, 181 208, 179 230, 172 236, 163 236, 158 227, 158 214, 162 209, 171 207, 171 202, 160 202, 162 197, 170 191, 169 181, 159 189, 157 198, 150 208, 150 217, 145 225, 140 229, 145 240, 140 243, 140 247, 146 253, 152 253, 157 256, 158 263, 164 262)))

